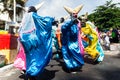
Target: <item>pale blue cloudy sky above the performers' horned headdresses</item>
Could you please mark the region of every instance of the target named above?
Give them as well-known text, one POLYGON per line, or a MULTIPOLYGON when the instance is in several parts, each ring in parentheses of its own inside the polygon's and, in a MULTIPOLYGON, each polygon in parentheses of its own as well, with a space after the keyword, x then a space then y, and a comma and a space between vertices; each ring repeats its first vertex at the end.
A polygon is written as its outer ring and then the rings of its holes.
MULTIPOLYGON (((97 6, 103 5, 109 0, 28 0, 26 6, 34 6, 44 1, 43 6, 38 10, 40 16, 52 16, 60 18, 67 16, 68 13, 64 10, 63 6, 75 8, 83 4, 82 10, 78 15, 88 14, 94 12, 97 6)), ((120 0, 113 0, 113 3, 118 3, 120 0)))

